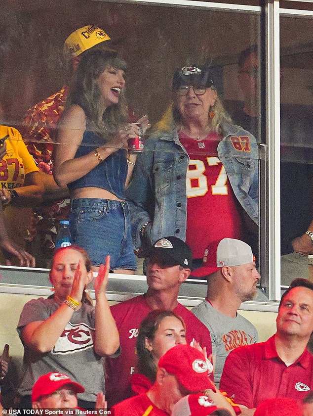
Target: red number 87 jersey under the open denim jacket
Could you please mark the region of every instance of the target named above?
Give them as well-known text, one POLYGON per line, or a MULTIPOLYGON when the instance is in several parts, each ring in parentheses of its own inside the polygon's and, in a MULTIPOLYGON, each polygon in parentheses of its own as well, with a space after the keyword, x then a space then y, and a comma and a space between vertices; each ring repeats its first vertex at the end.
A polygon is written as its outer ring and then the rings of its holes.
POLYGON ((190 157, 186 177, 186 242, 193 257, 201 259, 211 241, 225 237, 241 239, 241 220, 235 194, 217 154, 221 137, 212 132, 198 141, 179 132, 179 139, 190 157))

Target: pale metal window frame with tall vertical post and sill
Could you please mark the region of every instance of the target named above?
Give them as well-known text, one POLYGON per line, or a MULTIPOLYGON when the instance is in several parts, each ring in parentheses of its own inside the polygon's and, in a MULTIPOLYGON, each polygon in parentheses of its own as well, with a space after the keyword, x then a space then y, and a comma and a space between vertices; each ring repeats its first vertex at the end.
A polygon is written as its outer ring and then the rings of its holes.
MULTIPOLYGON (((94 0, 102 1, 102 0, 94 0)), ((110 1, 110 0, 109 0, 110 1)), ((291 1, 291 0, 285 0, 291 1)), ((261 171, 264 172, 264 185, 262 186, 260 195, 260 246, 262 246, 261 259, 261 273, 262 273, 262 286, 265 289, 265 293, 269 298, 269 302, 263 303, 264 307, 270 307, 273 311, 275 303, 279 301, 281 296, 281 284, 280 284, 280 86, 279 86, 279 18, 280 16, 313 16, 313 11, 302 9, 287 9, 280 8, 279 1, 266 1, 264 5, 244 5, 244 4, 232 4, 232 3, 216 3, 197 0, 129 0, 118 1, 124 3, 134 4, 155 4, 156 6, 173 6, 173 7, 193 7, 199 9, 210 8, 212 10, 229 10, 232 11, 245 11, 247 13, 260 13, 261 24, 261 53, 264 53, 264 68, 261 68, 263 74, 261 80, 261 88, 266 91, 265 106, 267 108, 264 113, 264 136, 265 143, 260 144, 260 165, 261 171), (270 175, 272 172, 274 175, 270 175), (271 203, 269 202, 271 201, 271 203), (267 305, 267 306, 265 306, 267 305)), ((304 2, 304 0, 297 0, 293 3, 304 2)), ((306 3, 312 3, 313 0, 306 0, 306 3)), ((260 186, 261 187, 261 186, 260 186)), ((261 248, 261 247, 260 247, 261 248)), ((24 274, 26 276, 29 273, 34 273, 36 276, 48 275, 47 269, 25 269, 18 267, 0 266, 0 271, 4 277, 4 281, 0 282, 0 292, 10 293, 28 293, 35 294, 38 291, 49 291, 49 285, 27 285, 22 283, 14 283, 14 279, 17 278, 17 274, 24 274), (8 277, 13 278, 13 282, 6 282, 8 277), (14 292, 16 290, 16 292, 14 292), (13 291, 13 292, 12 292, 13 291)), ((41 277, 40 277, 41 280, 41 277)), ((109 288, 109 299, 113 301, 124 300, 131 295, 145 291, 145 277, 143 276, 131 276, 127 275, 115 275, 110 276, 112 282, 109 288), (118 284, 120 282, 120 284, 118 284), (135 282, 140 282, 136 285, 135 282), (112 290, 111 290, 112 289, 112 290)), ((203 286, 205 282, 200 281, 199 287, 203 286)), ((195 282, 184 283, 192 284, 196 287, 195 282)), ((187 287, 187 286, 186 286, 187 287)), ((38 292, 38 293, 39 293, 38 292)), ((43 294, 42 292, 42 294, 43 294)), ((189 288, 189 293, 191 292, 189 288)), ((202 290, 203 296, 205 291, 202 290)), ((192 306, 195 301, 201 299, 201 296, 183 296, 186 298, 184 304, 192 306)), ((248 309, 253 309, 253 304, 258 302, 248 302, 248 309)), ((259 302, 261 305, 262 302, 259 302)), ((254 306, 256 308, 256 306, 254 306)), ((246 308, 244 308, 246 309, 246 308)))

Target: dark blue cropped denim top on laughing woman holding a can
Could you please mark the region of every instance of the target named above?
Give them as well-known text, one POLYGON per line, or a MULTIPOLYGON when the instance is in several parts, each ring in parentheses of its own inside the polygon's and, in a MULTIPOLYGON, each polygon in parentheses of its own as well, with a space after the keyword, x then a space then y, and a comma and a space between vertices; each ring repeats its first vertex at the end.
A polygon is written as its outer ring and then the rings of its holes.
MULTIPOLYGON (((84 156, 105 141, 94 132, 85 130, 82 142, 77 149, 74 158, 84 156)), ((96 156, 95 156, 96 157, 96 156)), ((78 188, 94 186, 106 189, 119 199, 125 199, 125 182, 127 177, 127 158, 124 149, 119 149, 99 163, 95 168, 82 178, 68 184, 72 191, 78 188)))

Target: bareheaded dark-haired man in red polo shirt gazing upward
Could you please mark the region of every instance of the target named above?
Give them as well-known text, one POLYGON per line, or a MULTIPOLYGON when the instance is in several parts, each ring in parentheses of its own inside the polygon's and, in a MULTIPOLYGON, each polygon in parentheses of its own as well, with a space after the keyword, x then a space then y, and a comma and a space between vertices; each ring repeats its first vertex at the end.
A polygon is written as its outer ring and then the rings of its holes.
POLYGON ((266 342, 236 348, 226 359, 220 388, 253 415, 265 399, 289 397, 299 404, 313 387, 313 283, 295 279, 282 295, 276 333, 266 342))

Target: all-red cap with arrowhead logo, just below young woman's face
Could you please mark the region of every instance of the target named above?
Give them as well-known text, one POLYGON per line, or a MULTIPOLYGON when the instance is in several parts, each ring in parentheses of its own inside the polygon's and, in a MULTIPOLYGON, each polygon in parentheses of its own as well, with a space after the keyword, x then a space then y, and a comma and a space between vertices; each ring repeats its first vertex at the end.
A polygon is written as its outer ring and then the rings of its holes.
POLYGON ((158 367, 176 376, 189 391, 200 392, 206 389, 216 391, 209 378, 204 355, 190 345, 176 345, 159 360, 158 367))

